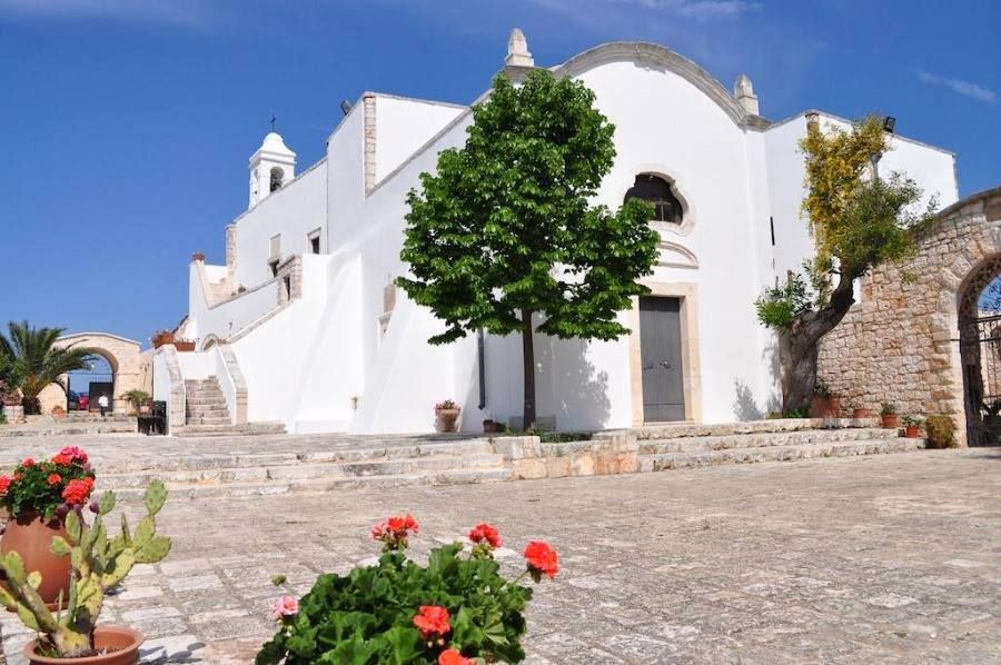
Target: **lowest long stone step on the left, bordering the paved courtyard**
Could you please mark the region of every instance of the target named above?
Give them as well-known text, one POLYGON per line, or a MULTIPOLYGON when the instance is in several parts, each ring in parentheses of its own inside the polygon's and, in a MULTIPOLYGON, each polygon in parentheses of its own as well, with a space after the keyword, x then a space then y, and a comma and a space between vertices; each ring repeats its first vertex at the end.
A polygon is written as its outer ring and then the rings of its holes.
MULTIPOLYGON (((511 479, 506 468, 449 469, 419 474, 386 476, 348 476, 344 478, 321 478, 314 480, 286 480, 264 483, 231 483, 226 485, 168 484, 171 498, 225 498, 262 496, 275 494, 323 494, 337 489, 389 488, 407 485, 467 485, 473 483, 498 483, 511 479)), ((116 488, 115 493, 125 500, 141 499, 143 488, 116 488)))

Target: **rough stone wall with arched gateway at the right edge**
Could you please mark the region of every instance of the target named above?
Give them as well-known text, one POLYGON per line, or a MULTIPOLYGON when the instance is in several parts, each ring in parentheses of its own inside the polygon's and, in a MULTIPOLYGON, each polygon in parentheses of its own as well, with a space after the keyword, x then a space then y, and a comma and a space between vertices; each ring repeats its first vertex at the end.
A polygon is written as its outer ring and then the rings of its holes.
POLYGON ((821 377, 869 408, 948 414, 961 444, 999 443, 988 409, 1001 398, 1001 317, 980 306, 999 275, 1001 187, 942 210, 914 258, 862 280, 821 343, 821 377))

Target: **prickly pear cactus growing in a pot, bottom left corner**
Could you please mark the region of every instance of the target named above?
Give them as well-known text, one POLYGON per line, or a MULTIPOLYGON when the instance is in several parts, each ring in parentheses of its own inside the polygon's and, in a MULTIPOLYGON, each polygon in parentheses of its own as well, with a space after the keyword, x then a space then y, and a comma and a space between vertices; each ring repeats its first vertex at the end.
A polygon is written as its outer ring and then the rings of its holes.
POLYGON ((43 646, 61 657, 80 657, 90 654, 93 645, 90 635, 105 603, 105 594, 125 579, 136 564, 153 564, 170 553, 170 538, 157 535, 156 517, 167 502, 167 488, 153 480, 143 496, 146 516, 136 530, 129 529, 121 516, 121 533, 109 537, 105 516, 115 508, 115 494, 106 492, 98 502, 93 524, 88 525, 76 513, 66 516, 68 538, 54 536, 52 554, 69 555, 73 565, 73 579, 69 598, 60 594, 56 613, 50 612, 38 587, 41 575, 26 572, 24 563, 16 552, 0 556, 0 568, 7 573, 8 588, 0 587, 0 604, 16 612, 32 631, 43 633, 43 646))

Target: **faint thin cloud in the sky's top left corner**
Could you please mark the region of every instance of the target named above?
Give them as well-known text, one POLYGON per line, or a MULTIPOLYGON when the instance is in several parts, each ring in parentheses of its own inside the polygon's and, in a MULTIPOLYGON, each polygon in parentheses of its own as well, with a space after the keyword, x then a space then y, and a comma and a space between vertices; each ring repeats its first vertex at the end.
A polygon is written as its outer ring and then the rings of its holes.
POLYGON ((198 0, 0 0, 0 18, 113 19, 198 27, 208 18, 198 0))

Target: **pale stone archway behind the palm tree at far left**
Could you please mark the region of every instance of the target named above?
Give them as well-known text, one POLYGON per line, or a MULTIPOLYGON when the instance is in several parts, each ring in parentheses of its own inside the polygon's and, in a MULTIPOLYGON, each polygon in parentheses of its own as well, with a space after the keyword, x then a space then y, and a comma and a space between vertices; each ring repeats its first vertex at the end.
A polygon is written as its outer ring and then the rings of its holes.
MULTIPOLYGON (((111 368, 112 409, 128 413, 128 401, 122 397, 129 390, 151 391, 152 376, 149 353, 141 351, 141 345, 133 340, 109 332, 77 332, 60 337, 57 345, 80 346, 95 350, 108 361, 111 368)), ((63 381, 66 377, 63 376, 63 381)), ((66 407, 66 394, 52 384, 39 395, 42 414, 51 414, 57 406, 66 407)))

